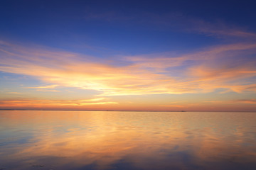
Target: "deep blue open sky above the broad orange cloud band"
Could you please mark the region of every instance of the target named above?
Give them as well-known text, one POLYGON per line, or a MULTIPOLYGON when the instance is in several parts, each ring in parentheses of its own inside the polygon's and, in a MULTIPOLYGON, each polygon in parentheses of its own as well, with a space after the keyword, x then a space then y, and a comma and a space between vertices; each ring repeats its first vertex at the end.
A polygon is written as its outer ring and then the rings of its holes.
POLYGON ((3 38, 75 52, 87 52, 85 48, 133 54, 190 50, 223 39, 203 33, 200 27, 255 31, 251 3, 1 1, 0 29, 3 38))

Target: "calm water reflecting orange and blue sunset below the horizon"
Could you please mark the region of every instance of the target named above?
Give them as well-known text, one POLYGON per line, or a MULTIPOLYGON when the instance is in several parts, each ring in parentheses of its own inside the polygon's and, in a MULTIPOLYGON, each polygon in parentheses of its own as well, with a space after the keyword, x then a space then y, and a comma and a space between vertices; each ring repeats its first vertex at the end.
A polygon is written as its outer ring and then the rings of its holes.
POLYGON ((256 169, 256 113, 0 111, 0 169, 256 169))

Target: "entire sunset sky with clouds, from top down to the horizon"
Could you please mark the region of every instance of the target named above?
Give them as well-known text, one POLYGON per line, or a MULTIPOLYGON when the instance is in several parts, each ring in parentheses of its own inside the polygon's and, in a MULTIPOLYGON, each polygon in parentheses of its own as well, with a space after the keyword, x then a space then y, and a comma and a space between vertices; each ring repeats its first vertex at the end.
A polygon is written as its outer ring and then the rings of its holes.
POLYGON ((0 108, 256 111, 253 1, 0 1, 0 108))

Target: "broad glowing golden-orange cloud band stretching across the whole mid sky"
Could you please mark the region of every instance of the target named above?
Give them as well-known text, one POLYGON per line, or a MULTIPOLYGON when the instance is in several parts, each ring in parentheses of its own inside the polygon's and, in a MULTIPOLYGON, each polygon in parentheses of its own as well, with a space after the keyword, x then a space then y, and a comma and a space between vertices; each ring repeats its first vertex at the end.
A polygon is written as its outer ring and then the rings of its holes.
POLYGON ((0 71, 36 77, 55 91, 58 86, 100 91, 100 96, 255 91, 255 43, 208 47, 172 56, 171 52, 122 57, 106 62, 95 57, 0 43, 0 71), (107 63, 107 64, 106 64, 107 63))

